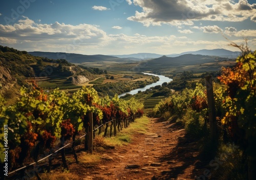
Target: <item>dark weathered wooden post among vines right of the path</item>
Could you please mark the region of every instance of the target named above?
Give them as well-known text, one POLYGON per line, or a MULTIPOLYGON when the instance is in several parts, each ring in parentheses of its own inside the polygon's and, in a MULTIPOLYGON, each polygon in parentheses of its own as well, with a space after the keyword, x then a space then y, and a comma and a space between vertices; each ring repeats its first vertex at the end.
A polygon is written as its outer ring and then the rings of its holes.
POLYGON ((212 85, 212 77, 205 76, 206 80, 206 91, 208 100, 208 115, 210 125, 210 137, 213 142, 217 142, 217 121, 215 113, 215 102, 214 102, 214 88, 212 85))

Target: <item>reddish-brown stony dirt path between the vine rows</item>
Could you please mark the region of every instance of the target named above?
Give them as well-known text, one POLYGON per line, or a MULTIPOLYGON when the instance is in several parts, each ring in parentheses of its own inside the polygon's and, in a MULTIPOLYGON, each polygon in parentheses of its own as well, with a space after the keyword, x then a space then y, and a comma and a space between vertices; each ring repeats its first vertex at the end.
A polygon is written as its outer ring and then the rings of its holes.
POLYGON ((195 179, 197 156, 197 143, 180 125, 152 119, 146 134, 103 152, 100 164, 84 170, 81 179, 195 179))

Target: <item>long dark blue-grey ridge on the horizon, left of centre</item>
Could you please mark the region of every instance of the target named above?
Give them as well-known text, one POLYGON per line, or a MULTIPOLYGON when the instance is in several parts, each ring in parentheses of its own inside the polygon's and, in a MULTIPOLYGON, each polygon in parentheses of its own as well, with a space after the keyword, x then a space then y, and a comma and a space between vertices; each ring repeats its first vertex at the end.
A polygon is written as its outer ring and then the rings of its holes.
POLYGON ((122 59, 114 56, 106 55, 83 55, 83 54, 74 54, 74 53, 52 53, 52 52, 29 52, 33 56, 46 57, 49 59, 66 59, 71 63, 84 63, 84 62, 129 62, 131 59, 122 59))

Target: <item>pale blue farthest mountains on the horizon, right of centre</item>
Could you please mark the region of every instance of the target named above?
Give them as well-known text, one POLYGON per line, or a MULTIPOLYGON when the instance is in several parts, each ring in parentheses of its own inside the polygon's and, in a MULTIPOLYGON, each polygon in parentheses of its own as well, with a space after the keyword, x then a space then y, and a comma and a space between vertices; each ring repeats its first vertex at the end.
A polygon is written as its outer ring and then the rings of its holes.
MULTIPOLYGON (((165 55, 166 57, 178 57, 184 54, 194 54, 194 55, 205 55, 205 56, 219 56, 219 57, 226 57, 226 58, 237 58, 240 54, 239 51, 229 51, 225 49, 214 49, 214 50, 199 50, 199 51, 188 51, 183 52, 180 54, 168 54, 165 55)), ((127 54, 127 55, 111 55, 119 58, 129 58, 133 60, 141 60, 141 59, 153 59, 159 58, 163 55, 155 54, 155 53, 137 53, 137 54, 127 54)))

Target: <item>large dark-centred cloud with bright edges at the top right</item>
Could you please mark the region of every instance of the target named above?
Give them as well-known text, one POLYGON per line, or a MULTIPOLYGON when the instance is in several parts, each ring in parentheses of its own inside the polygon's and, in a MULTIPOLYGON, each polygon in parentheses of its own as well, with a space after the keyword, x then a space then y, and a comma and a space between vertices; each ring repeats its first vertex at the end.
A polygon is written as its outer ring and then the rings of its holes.
POLYGON ((235 3, 230 0, 134 0, 133 4, 140 6, 142 11, 136 11, 128 20, 141 22, 144 26, 160 26, 170 24, 180 26, 193 21, 243 21, 250 18, 256 21, 256 4, 247 0, 235 3))

